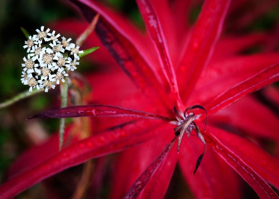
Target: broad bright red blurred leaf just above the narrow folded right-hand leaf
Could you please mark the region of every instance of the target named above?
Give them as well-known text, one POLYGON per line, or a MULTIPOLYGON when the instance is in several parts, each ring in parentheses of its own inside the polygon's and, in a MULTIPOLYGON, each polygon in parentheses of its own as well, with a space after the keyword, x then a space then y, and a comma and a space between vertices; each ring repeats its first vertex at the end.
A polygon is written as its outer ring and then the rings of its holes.
POLYGON ((228 88, 277 63, 278 56, 278 53, 264 53, 212 61, 200 76, 188 104, 209 103, 228 88))

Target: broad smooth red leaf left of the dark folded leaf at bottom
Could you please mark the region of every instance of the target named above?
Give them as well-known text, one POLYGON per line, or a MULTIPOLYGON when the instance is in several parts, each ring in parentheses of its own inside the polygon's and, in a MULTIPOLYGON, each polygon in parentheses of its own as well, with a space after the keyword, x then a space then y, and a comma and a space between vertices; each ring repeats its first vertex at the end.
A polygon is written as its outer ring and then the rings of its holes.
MULTIPOLYGON (((173 131, 172 125, 164 125, 160 129, 161 133, 159 137, 125 150, 119 154, 116 162, 112 164, 115 166, 113 168, 112 190, 109 198, 123 198, 136 179, 145 171, 158 154, 161 153, 164 146, 166 146, 173 138, 173 133, 170 133, 173 131), (127 165, 129 166, 127 167, 127 165)), ((171 176, 171 174, 168 175, 171 176)), ((165 183, 162 182, 162 184, 165 183)), ((161 192, 164 192, 163 187, 161 192)))

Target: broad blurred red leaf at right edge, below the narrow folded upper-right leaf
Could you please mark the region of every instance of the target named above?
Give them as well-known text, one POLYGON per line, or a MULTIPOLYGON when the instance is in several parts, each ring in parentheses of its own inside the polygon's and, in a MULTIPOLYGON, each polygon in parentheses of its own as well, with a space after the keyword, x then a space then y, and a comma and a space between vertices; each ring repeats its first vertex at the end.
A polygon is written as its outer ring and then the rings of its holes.
POLYGON ((244 134, 279 141, 278 117, 251 96, 211 115, 210 123, 216 126, 230 125, 244 134))

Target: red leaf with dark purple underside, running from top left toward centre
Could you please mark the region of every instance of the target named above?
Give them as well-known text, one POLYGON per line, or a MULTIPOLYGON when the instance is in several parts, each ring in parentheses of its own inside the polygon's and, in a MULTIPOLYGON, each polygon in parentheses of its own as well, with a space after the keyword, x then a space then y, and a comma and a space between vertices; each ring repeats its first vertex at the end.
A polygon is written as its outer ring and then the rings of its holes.
MULTIPOLYGON (((167 95, 164 89, 162 89, 161 78, 153 68, 153 65, 148 63, 144 57, 145 54, 138 49, 137 43, 131 38, 132 35, 127 34, 125 29, 120 28, 121 26, 125 28, 125 24, 119 26, 115 23, 111 15, 107 13, 107 10, 96 1, 68 1, 74 3, 89 22, 97 13, 100 14, 95 32, 101 42, 106 46, 125 73, 127 73, 145 94, 153 94, 152 96, 159 95, 159 99, 169 107, 171 104, 166 100, 167 95)), ((143 37, 141 38, 143 39, 143 37)))

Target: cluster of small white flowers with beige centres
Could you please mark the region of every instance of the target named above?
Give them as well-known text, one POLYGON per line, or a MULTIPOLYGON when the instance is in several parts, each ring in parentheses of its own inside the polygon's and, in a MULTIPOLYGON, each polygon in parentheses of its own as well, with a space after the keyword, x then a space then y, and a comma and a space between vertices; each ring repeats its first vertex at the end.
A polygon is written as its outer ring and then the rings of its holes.
POLYGON ((74 71, 79 65, 79 46, 70 43, 71 38, 62 37, 62 41, 58 41, 60 34, 55 35, 55 31, 49 32, 48 28, 44 31, 37 29, 37 35, 30 35, 23 46, 27 48, 27 58, 24 57, 24 67, 22 71, 21 82, 28 85, 29 91, 37 88, 44 88, 45 92, 49 88, 54 89, 55 83, 59 84, 60 80, 64 83, 64 77, 68 76, 67 70, 74 71))

